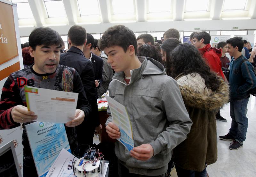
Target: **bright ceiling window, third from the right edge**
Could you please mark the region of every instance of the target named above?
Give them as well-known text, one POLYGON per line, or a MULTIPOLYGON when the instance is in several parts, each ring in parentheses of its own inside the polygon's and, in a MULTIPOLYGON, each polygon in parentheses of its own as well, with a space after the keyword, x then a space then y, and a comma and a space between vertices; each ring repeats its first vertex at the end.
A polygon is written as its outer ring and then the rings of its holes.
POLYGON ((148 0, 149 13, 151 12, 170 12, 171 0, 148 0))

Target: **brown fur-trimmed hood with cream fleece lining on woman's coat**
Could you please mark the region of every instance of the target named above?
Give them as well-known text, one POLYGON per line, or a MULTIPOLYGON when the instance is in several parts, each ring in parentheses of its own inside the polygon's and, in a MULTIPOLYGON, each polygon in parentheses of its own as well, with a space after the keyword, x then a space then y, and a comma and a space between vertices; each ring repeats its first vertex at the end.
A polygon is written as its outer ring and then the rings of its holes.
MULTIPOLYGON (((197 76, 198 75, 199 74, 197 74, 197 76)), ((180 87, 180 93, 182 95, 183 101, 186 106, 196 107, 204 110, 214 110, 222 107, 225 103, 228 103, 229 88, 228 88, 228 84, 222 79, 221 79, 221 84, 218 90, 216 90, 215 92, 211 92, 210 94, 206 94, 206 92, 200 92, 199 90, 195 89, 192 85, 189 84, 189 82, 188 84, 186 84, 186 81, 183 84, 179 84, 179 79, 181 79, 182 77, 187 77, 187 80, 189 80, 191 78, 191 75, 190 74, 187 76, 183 75, 179 78, 177 77, 175 78, 175 80, 177 80, 178 85, 180 87)), ((199 75, 199 77, 201 76, 199 75)), ((198 80, 197 82, 200 82, 198 80)), ((204 87, 205 87, 205 84, 204 84, 204 87)))

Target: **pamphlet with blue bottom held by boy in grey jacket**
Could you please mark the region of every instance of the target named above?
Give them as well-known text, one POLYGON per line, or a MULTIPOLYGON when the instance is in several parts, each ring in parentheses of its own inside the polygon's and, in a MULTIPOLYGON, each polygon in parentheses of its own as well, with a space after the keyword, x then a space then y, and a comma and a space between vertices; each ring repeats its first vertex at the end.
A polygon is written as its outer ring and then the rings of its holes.
POLYGON ((105 95, 105 97, 108 101, 113 123, 120 129, 121 136, 117 140, 120 141, 128 151, 131 151, 132 148, 134 148, 134 141, 132 125, 126 107, 107 95, 105 95))

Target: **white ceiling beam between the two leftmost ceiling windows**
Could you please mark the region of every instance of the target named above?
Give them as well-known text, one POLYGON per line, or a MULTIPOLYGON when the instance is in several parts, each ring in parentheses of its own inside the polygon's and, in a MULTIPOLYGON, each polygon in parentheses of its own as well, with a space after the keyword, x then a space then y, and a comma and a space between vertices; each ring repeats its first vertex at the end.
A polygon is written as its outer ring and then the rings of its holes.
POLYGON ((29 4, 32 14, 35 18, 36 26, 43 26, 45 24, 45 18, 47 18, 47 14, 44 9, 43 1, 28 0, 28 4, 29 4))

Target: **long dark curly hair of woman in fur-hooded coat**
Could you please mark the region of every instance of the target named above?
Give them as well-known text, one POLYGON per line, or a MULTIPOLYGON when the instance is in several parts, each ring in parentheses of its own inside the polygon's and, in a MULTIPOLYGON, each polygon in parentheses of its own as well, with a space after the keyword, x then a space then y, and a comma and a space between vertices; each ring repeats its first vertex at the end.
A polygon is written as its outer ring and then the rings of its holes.
POLYGON ((188 43, 179 44, 172 50, 170 59, 171 67, 166 67, 166 70, 171 71, 169 76, 175 78, 183 73, 195 77, 195 73, 198 73, 204 78, 207 88, 212 89, 212 91, 219 89, 221 80, 218 79, 216 73, 210 71, 210 67, 205 63, 195 46, 188 43))

